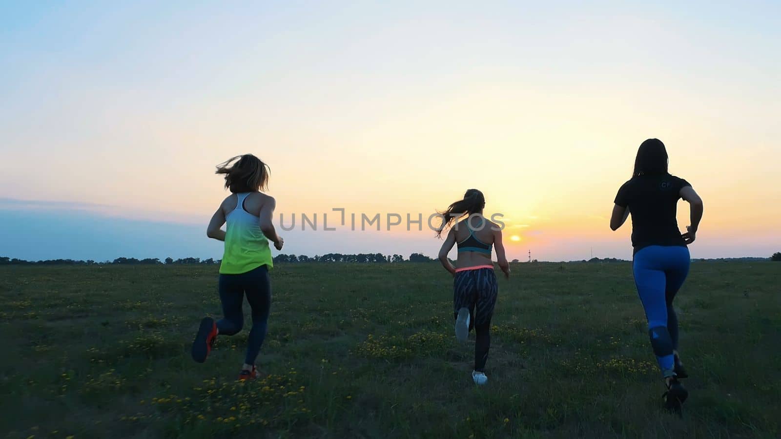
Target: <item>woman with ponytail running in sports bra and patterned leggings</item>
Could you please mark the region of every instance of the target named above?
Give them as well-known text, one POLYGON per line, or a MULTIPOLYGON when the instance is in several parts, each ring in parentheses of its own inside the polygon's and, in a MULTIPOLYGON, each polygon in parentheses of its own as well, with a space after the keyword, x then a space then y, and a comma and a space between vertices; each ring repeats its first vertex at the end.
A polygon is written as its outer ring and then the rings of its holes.
POLYGON ((494 264, 490 259, 492 245, 496 247, 499 268, 505 273, 505 277, 510 276, 505 247, 501 244, 501 227, 485 219, 485 205, 483 192, 469 189, 462 200, 441 212, 442 226, 437 230, 437 237, 441 237, 444 229, 455 222, 442 243, 439 259, 444 269, 454 277, 453 315, 456 339, 466 341, 469 331, 475 328, 477 338, 472 379, 478 385, 488 381, 485 367, 490 348, 490 319, 494 315, 498 291, 494 264), (463 216, 466 218, 461 219, 463 216), (454 244, 458 245, 458 268, 448 260, 448 252, 454 244))

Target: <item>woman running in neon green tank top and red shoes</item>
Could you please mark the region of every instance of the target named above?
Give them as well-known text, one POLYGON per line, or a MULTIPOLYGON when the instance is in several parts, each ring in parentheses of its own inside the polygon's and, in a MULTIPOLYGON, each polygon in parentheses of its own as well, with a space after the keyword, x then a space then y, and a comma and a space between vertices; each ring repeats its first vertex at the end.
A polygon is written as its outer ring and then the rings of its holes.
POLYGON ((205 362, 217 335, 237 334, 244 325, 241 305, 244 294, 252 310, 252 329, 249 332, 247 355, 241 367, 239 380, 258 376, 255 359, 266 337, 266 323, 271 305, 269 269, 273 266, 269 240, 277 250, 284 240, 276 234, 271 222, 275 201, 263 194, 269 180, 269 167, 255 155, 237 155, 217 166, 218 174, 225 174, 229 195, 214 212, 206 236, 225 241, 223 262, 219 266, 219 300, 223 305, 223 319, 211 317, 201 320, 201 327, 192 347, 193 359, 205 362), (226 231, 220 229, 227 223, 226 231))

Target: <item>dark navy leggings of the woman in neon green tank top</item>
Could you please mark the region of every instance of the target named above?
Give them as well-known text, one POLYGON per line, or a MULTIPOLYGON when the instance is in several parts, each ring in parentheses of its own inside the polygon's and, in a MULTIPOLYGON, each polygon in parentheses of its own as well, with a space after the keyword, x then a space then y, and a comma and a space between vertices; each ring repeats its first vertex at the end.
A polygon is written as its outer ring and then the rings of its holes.
POLYGON ((247 273, 219 275, 219 301, 223 303, 223 319, 217 321, 219 335, 237 334, 244 326, 241 305, 245 294, 252 310, 252 329, 249 331, 244 363, 255 364, 263 339, 266 338, 271 307, 271 280, 266 266, 259 266, 247 273))

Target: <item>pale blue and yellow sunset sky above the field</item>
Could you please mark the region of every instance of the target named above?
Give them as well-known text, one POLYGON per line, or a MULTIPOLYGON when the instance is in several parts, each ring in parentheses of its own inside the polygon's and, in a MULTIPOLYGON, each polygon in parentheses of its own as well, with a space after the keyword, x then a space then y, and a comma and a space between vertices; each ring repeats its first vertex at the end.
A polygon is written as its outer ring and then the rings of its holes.
POLYGON ((0 255, 219 259, 214 166, 251 152, 284 253, 436 255, 476 187, 510 259, 629 259, 648 137, 704 200, 694 258, 781 251, 779 2, 123 3, 0 2, 0 255))

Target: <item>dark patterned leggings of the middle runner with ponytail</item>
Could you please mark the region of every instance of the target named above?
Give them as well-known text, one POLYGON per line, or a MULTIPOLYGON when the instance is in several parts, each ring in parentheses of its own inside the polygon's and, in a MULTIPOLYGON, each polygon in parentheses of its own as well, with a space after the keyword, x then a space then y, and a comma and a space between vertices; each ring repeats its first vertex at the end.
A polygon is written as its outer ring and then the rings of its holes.
POLYGON ((490 319, 498 294, 494 269, 468 269, 455 273, 453 280, 453 316, 469 309, 469 330, 475 329, 475 370, 485 372, 490 349, 490 319))

